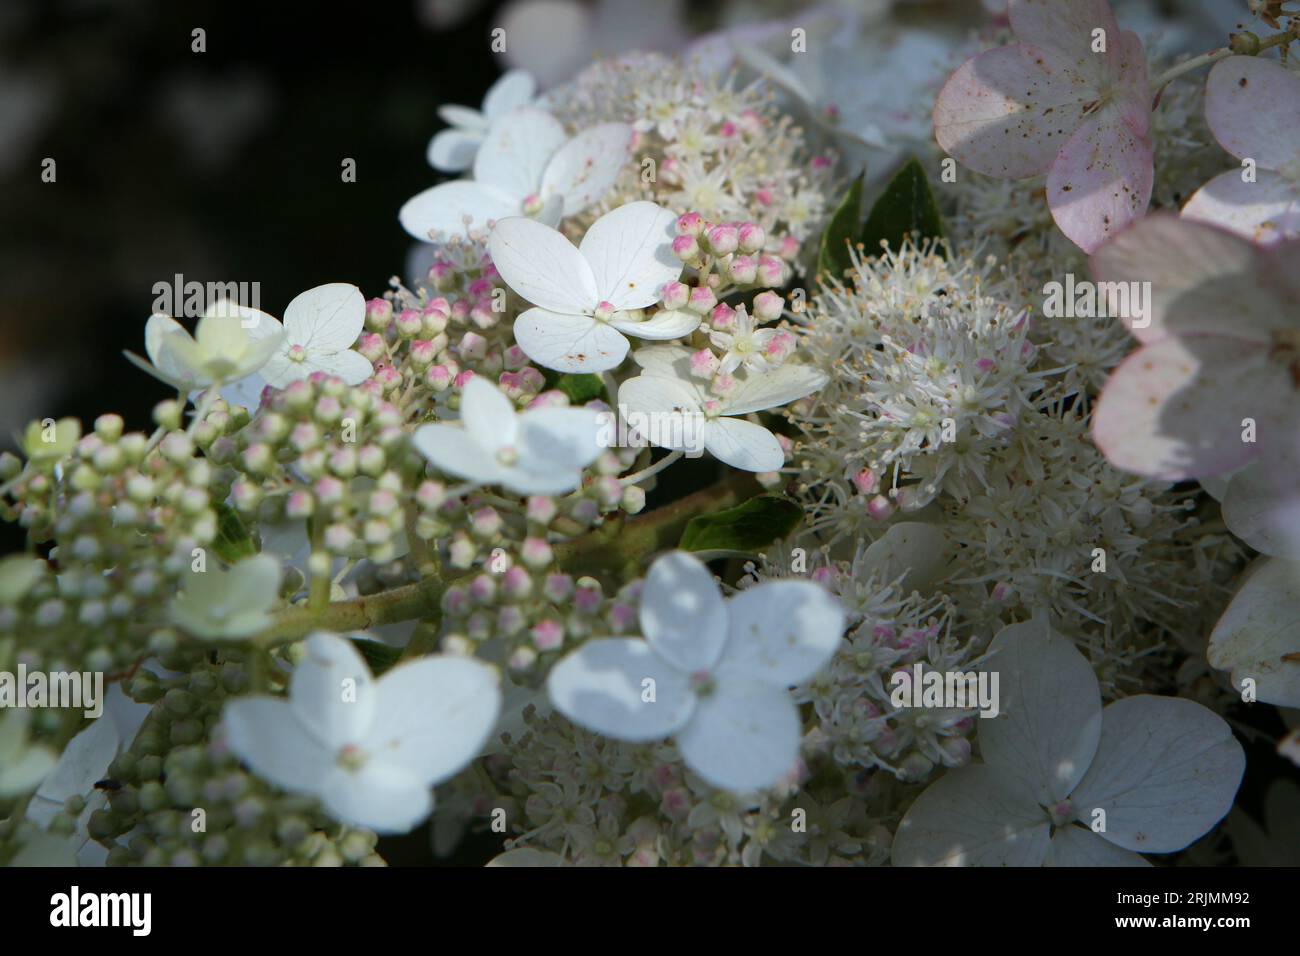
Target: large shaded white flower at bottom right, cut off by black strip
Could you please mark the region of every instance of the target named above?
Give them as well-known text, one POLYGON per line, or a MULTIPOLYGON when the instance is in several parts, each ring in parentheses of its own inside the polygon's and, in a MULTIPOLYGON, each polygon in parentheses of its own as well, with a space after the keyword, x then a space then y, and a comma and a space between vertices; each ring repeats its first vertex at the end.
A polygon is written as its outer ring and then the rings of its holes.
POLYGON ((1141 866, 1232 806, 1245 754, 1214 711, 1149 695, 1102 709, 1092 665, 1045 622, 1004 628, 989 650, 1002 700, 979 722, 984 762, 916 797, 896 865, 1141 866))

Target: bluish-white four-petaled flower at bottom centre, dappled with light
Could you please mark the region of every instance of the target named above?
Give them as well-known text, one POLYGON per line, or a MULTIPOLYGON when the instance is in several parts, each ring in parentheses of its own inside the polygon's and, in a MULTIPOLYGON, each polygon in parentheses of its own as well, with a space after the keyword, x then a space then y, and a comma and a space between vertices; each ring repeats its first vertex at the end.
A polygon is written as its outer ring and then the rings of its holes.
POLYGON ((708 568, 673 551, 641 593, 645 640, 593 640, 551 670, 551 701, 620 740, 675 736, 715 787, 775 786, 794 769, 802 728, 789 687, 831 659, 840 602, 811 581, 767 581, 724 601, 708 568))

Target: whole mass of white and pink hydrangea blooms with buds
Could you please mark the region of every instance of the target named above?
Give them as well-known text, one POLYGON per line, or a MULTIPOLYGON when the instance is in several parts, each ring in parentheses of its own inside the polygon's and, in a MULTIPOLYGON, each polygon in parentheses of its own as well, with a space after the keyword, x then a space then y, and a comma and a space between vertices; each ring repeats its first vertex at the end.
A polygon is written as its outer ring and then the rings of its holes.
POLYGON ((399 213, 413 281, 150 316, 152 433, 0 455, 0 676, 110 688, 0 714, 0 862, 380 865, 426 821, 528 866, 1248 832, 1216 831, 1238 705, 1300 706, 1295 70, 1260 59, 1300 18, 1157 72, 1105 0, 1006 10, 871 126, 937 150, 862 225, 779 105, 811 74, 702 44, 446 107, 429 161, 465 176, 399 213), (1212 133, 1258 178, 1184 163, 1212 133))

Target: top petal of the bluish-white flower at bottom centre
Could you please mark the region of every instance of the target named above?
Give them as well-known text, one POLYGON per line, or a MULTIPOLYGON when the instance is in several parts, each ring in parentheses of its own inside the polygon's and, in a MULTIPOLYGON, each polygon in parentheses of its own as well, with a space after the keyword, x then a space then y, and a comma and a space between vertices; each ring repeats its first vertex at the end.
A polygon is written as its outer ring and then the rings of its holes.
POLYGON ((727 604, 708 567, 686 551, 668 551, 646 572, 641 633, 677 669, 718 663, 727 643, 727 604))

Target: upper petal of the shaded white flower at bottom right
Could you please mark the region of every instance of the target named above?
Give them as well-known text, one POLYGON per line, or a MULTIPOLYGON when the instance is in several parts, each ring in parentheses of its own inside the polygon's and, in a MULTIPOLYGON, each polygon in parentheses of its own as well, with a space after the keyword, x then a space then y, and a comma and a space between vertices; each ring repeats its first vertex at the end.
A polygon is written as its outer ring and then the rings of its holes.
POLYGON ((1092 666, 1045 623, 1004 627, 982 670, 998 675, 1001 713, 980 718, 984 762, 1039 804, 1065 799, 1083 779, 1101 736, 1101 691, 1092 666))

